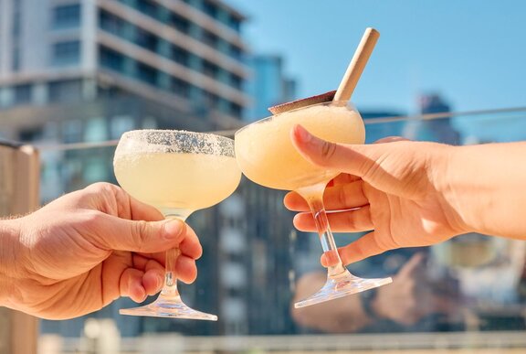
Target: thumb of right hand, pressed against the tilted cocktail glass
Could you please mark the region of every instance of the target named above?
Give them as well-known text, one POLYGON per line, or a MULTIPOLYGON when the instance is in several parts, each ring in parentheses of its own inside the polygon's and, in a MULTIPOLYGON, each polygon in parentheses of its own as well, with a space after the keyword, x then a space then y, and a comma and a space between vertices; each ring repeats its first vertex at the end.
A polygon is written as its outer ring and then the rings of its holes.
POLYGON ((342 145, 331 143, 310 134, 300 124, 291 132, 292 144, 300 155, 314 165, 326 167, 350 175, 363 177, 376 166, 380 145, 342 145), (369 156, 364 153, 367 152, 369 156))

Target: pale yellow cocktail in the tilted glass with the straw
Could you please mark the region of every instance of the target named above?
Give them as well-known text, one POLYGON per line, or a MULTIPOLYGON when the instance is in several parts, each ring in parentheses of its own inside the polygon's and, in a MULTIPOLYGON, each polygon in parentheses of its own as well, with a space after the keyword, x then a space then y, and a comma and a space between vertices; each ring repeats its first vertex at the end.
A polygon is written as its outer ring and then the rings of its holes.
POLYGON ((328 182, 337 175, 300 156, 290 141, 294 124, 301 124, 311 134, 334 143, 365 141, 360 113, 347 106, 314 105, 281 113, 237 132, 237 163, 245 176, 268 188, 297 190, 328 182))

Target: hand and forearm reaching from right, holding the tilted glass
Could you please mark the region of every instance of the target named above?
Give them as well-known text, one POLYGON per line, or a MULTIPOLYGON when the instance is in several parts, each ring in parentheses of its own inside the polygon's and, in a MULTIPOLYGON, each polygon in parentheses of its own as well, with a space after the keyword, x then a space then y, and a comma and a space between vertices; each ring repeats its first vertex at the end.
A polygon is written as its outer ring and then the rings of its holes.
MULTIPOLYGON (((346 209, 329 214, 333 231, 371 231, 339 250, 344 263, 467 232, 526 239, 526 143, 338 145, 300 126, 292 141, 312 163, 354 177, 324 196, 327 209, 346 209)), ((301 211, 297 228, 314 230, 298 194, 289 193, 285 204, 301 211)))

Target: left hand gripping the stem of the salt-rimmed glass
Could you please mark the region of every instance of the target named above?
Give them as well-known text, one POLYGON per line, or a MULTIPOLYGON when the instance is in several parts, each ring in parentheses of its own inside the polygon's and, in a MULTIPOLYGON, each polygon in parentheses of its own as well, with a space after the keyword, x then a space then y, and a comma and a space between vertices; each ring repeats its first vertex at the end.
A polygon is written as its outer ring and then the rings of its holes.
MULTIPOLYGON (((184 222, 121 188, 99 183, 70 193, 24 218, 2 243, 5 305, 44 318, 82 316, 120 296, 141 302, 163 285, 164 252, 179 248, 179 279, 191 283, 201 245, 184 222)), ((4 236, 4 235, 3 235, 4 236)))

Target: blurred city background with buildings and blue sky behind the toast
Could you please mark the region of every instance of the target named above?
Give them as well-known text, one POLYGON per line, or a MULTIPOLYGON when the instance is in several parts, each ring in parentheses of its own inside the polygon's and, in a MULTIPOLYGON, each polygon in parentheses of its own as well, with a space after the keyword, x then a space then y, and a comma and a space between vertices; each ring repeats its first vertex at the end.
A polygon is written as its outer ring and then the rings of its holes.
MULTIPOLYGON (((337 88, 363 30, 376 27, 381 38, 352 99, 368 143, 525 140, 525 13, 519 0, 0 0, 0 138, 37 148, 41 204, 116 183, 123 132, 232 135, 269 106, 337 88)), ((121 299, 89 316, 38 321, 38 352, 526 350, 526 245, 479 234, 352 264, 363 277, 395 277, 377 294, 389 316, 366 313, 362 295, 291 310, 320 281, 321 247, 294 230, 283 195, 244 179, 188 220, 204 256, 195 284, 180 291, 218 322, 120 316, 133 305, 121 299)), ((0 327, 9 316, 0 313, 0 327)))

